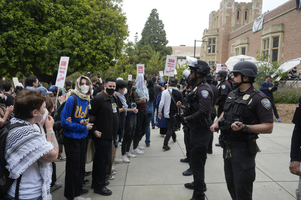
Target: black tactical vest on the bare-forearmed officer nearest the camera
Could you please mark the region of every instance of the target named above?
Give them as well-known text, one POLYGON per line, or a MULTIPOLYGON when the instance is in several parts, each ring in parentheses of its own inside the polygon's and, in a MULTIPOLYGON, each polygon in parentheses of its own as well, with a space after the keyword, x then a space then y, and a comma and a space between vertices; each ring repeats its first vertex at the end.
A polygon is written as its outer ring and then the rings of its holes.
MULTIPOLYGON (((258 93, 261 93, 261 91, 255 88, 250 95, 237 95, 236 91, 231 93, 226 99, 224 116, 219 120, 219 127, 229 126, 236 121, 247 125, 259 124, 259 119, 247 108, 247 105, 251 103, 252 97, 258 93)), ((256 133, 241 130, 233 131, 231 128, 221 131, 222 136, 233 141, 243 141, 248 138, 248 135, 254 134, 256 133)))

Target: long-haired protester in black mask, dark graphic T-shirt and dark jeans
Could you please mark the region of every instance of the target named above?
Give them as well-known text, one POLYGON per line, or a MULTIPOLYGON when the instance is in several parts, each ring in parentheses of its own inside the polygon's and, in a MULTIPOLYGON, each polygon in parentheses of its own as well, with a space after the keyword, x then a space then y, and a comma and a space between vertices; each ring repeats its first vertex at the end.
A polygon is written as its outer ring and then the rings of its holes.
POLYGON ((136 130, 136 113, 138 113, 138 109, 136 108, 137 94, 135 92, 135 81, 129 81, 126 89, 127 93, 124 96, 128 108, 124 123, 124 137, 122 139, 121 145, 121 159, 125 163, 129 163, 129 158, 136 158, 136 155, 129 152, 136 130))

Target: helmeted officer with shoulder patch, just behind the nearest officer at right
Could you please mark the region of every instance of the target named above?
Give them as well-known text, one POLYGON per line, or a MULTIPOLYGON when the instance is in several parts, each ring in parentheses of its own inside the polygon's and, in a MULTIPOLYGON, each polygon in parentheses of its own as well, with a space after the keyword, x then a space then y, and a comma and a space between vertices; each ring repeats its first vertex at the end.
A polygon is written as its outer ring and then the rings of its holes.
MULTIPOLYGON (((219 99, 217 100, 217 116, 219 117, 224 111, 224 105, 226 102, 227 95, 232 91, 232 89, 230 84, 226 80, 226 77, 228 76, 226 70, 219 70, 215 75, 220 81, 218 85, 219 99)), ((220 144, 216 143, 215 146, 220 147, 220 144)))

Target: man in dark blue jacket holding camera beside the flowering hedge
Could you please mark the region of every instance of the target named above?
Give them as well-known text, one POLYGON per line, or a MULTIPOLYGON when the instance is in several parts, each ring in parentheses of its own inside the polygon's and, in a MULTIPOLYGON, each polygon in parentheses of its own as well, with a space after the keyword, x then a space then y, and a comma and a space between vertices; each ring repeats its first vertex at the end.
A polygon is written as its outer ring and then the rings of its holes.
POLYGON ((272 79, 271 75, 266 76, 266 81, 261 83, 261 85, 260 85, 260 91, 263 92, 265 95, 267 95, 267 97, 270 99, 275 118, 276 118, 277 122, 281 122, 281 119, 279 118, 279 115, 277 112, 274 95, 273 95, 273 92, 275 92, 276 90, 273 88, 273 83, 271 83, 271 79, 272 79))

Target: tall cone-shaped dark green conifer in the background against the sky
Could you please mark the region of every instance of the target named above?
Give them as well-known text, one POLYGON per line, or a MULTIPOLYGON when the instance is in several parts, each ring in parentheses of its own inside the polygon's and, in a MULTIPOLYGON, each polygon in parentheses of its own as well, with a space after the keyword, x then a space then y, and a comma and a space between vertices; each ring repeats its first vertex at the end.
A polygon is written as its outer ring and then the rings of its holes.
POLYGON ((157 9, 152 9, 150 12, 150 16, 145 22, 141 36, 140 41, 137 43, 138 49, 150 45, 153 50, 161 52, 164 56, 172 53, 172 47, 166 47, 168 40, 166 39, 164 24, 162 20, 159 19, 157 9))

